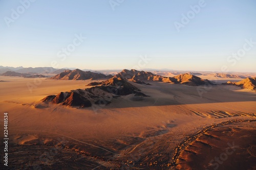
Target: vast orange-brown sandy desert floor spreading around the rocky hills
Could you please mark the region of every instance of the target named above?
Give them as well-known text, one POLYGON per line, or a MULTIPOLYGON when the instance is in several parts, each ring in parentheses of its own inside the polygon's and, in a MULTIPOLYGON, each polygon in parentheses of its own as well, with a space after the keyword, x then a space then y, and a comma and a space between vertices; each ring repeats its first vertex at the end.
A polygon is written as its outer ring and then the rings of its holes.
POLYGON ((0 80, 2 131, 4 112, 9 118, 9 169, 256 169, 254 91, 133 83, 150 97, 122 96, 108 106, 82 109, 35 108, 47 95, 89 88, 92 81, 0 80))

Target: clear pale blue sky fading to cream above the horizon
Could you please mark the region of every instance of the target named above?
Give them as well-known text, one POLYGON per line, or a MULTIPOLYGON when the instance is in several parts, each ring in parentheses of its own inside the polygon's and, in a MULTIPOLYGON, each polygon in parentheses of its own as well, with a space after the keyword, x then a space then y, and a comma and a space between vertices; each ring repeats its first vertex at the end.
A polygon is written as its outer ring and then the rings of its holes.
POLYGON ((0 65, 256 72, 255 0, 0 0, 0 65))

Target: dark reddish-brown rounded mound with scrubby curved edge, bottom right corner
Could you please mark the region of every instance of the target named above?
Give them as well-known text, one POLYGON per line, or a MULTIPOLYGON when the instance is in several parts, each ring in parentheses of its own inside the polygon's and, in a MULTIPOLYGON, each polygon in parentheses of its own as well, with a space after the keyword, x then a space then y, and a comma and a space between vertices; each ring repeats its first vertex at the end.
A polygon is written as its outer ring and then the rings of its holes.
POLYGON ((255 123, 248 120, 212 125, 180 143, 173 165, 176 169, 254 169, 255 137, 255 123))

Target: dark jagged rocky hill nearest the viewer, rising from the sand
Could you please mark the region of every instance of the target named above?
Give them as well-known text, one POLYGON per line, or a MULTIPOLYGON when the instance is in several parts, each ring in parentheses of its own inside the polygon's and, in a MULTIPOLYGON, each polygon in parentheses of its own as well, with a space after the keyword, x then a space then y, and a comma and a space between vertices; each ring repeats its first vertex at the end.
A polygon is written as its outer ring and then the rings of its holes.
POLYGON ((127 82, 124 78, 113 78, 96 83, 98 86, 60 92, 57 95, 49 95, 42 99, 43 103, 61 104, 69 107, 90 107, 92 104, 109 105, 113 98, 133 94, 133 96, 147 97, 140 89, 127 82))

